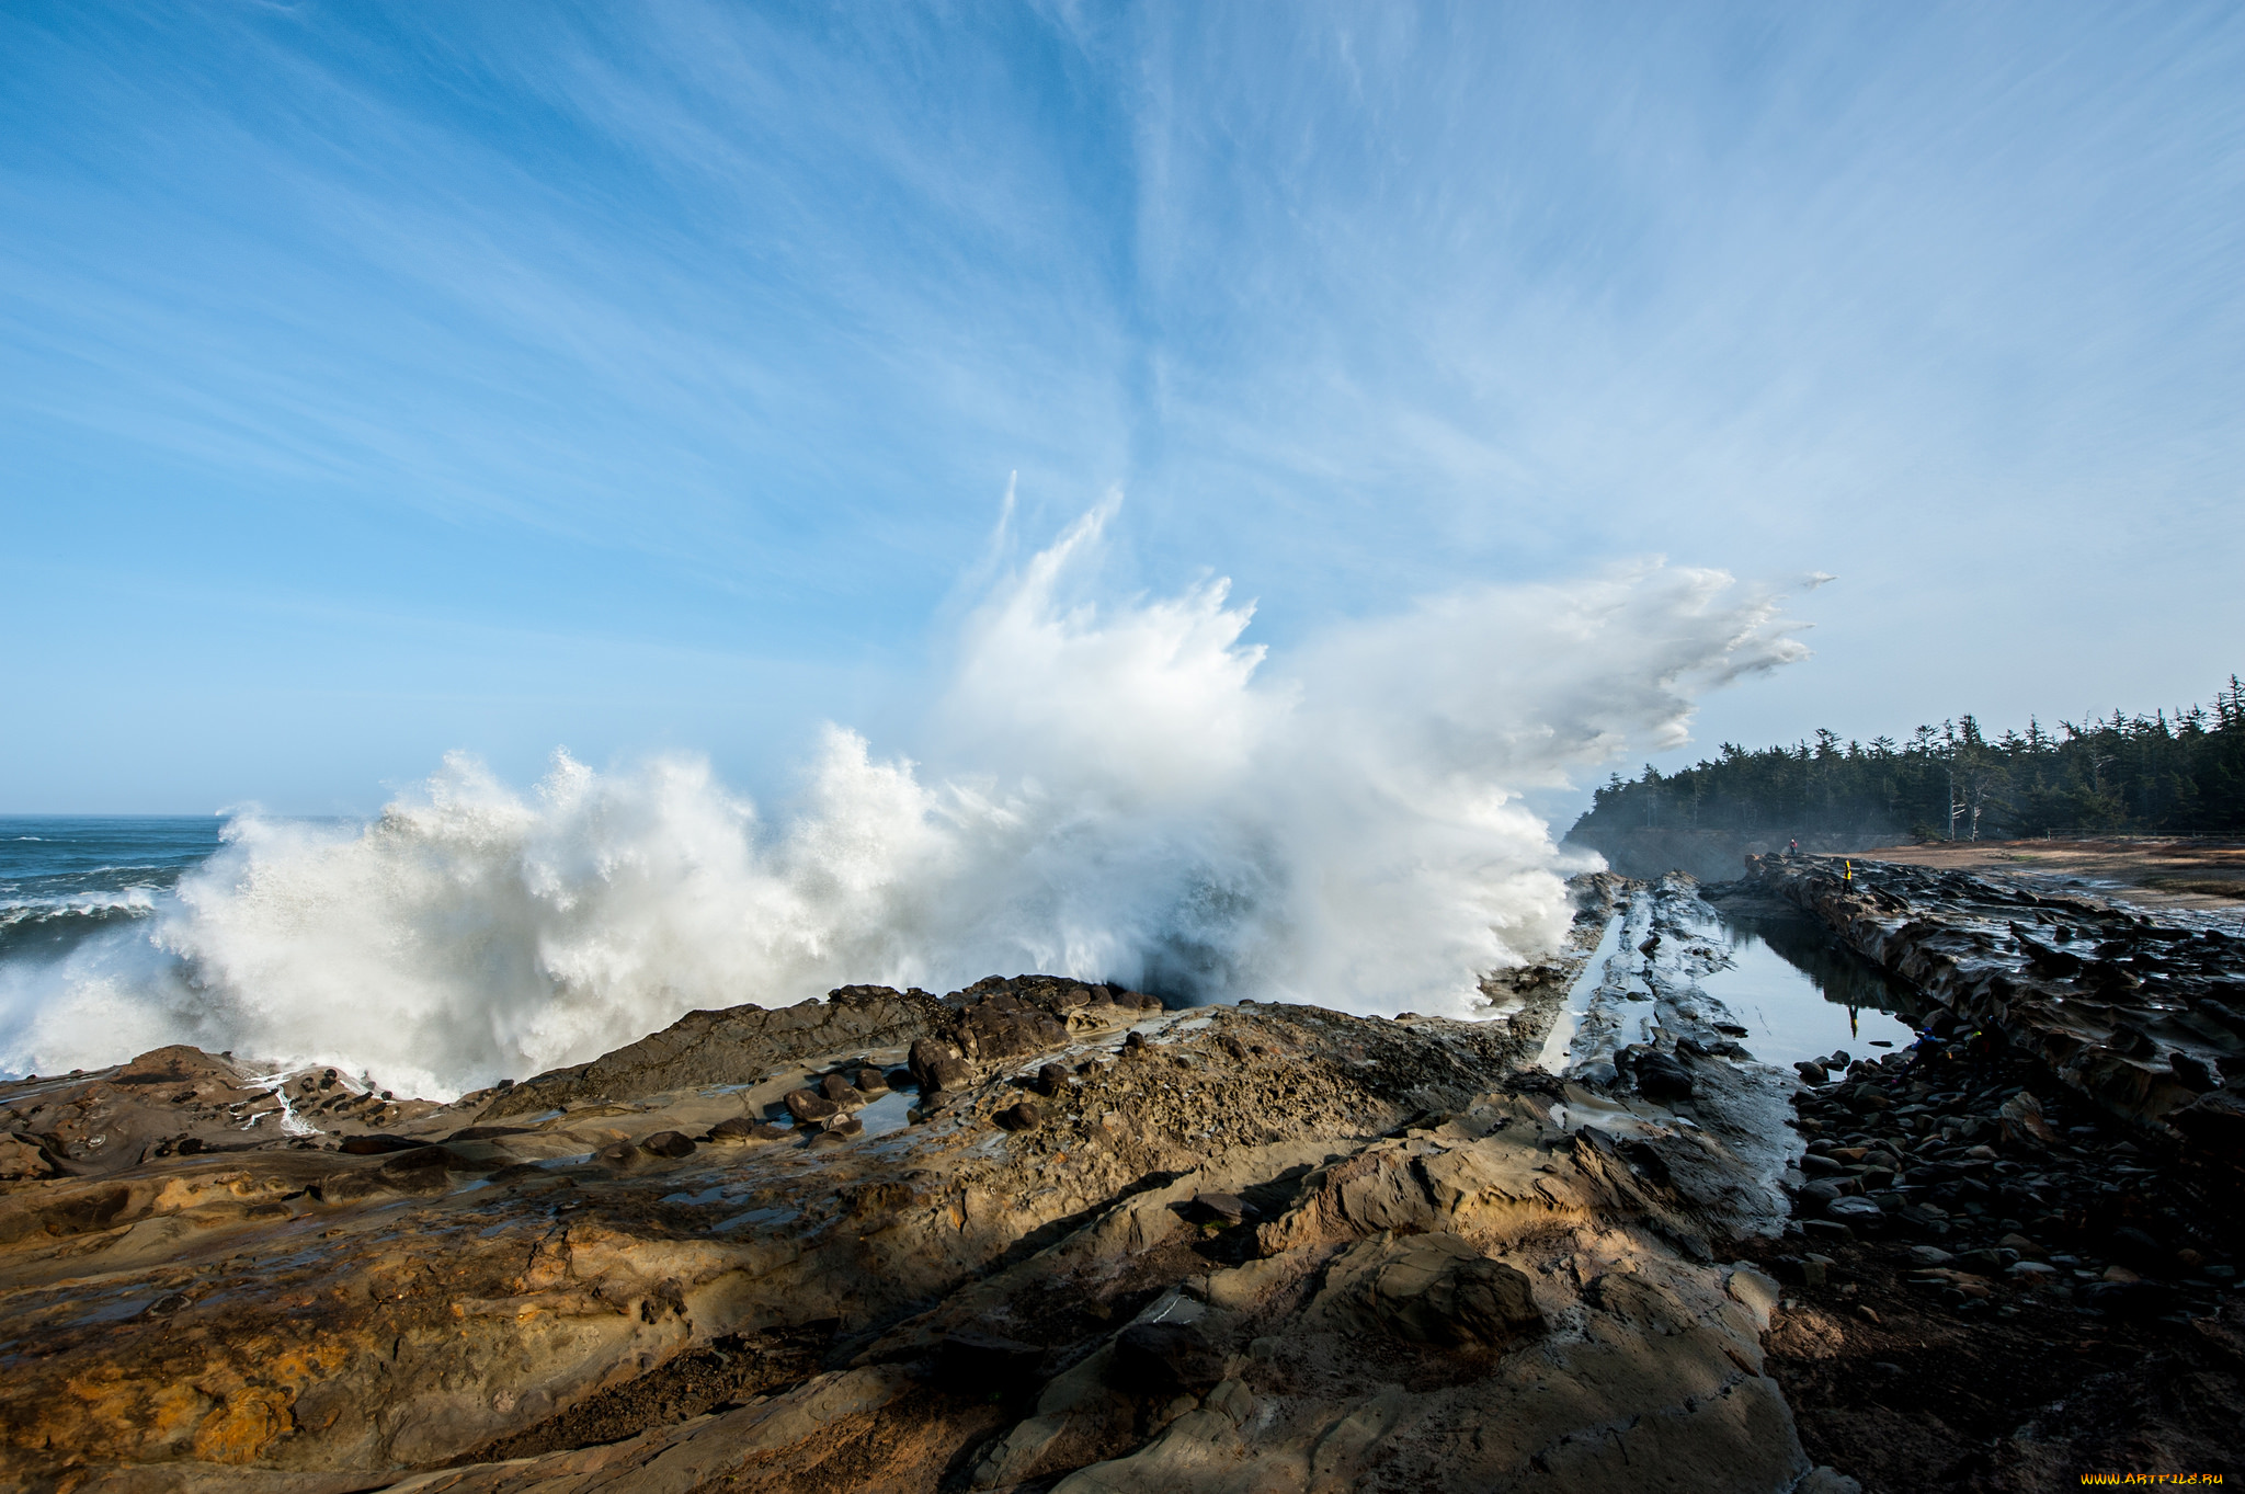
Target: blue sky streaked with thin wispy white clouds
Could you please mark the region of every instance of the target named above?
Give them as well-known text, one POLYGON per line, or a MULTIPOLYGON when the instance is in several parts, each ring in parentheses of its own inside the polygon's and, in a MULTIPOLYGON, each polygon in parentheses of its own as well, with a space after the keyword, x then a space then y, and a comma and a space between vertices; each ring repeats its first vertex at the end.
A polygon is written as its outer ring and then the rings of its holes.
POLYGON ((1008 482, 1277 651, 1836 572, 1706 747, 2205 698, 2241 76, 2227 4, 11 4, 0 810, 909 745, 1008 482))

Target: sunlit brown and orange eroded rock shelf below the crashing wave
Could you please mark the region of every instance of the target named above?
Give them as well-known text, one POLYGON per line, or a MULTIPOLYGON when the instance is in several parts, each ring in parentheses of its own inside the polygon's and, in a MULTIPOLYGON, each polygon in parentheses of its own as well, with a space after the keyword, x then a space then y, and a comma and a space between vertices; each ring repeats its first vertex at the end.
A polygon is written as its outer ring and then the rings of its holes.
POLYGON ((1769 1285, 1688 1184, 1720 1142, 1569 1128, 1540 1036, 992 978, 698 1012, 456 1106, 193 1050, 4 1086, 0 1472, 1794 1487, 1769 1285))

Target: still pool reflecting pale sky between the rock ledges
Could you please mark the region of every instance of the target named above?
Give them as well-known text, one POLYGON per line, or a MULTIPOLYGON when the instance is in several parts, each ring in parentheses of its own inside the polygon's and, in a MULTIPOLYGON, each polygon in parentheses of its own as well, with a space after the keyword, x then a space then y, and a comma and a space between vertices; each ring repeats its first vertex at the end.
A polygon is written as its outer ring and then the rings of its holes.
POLYGON ((1747 1027, 1740 1043, 1762 1063, 1792 1068, 1834 1048, 1877 1057, 1908 1048, 1917 1032, 1910 989, 1839 944, 1807 915, 1720 913, 1704 938, 1731 956, 1699 989, 1747 1027))

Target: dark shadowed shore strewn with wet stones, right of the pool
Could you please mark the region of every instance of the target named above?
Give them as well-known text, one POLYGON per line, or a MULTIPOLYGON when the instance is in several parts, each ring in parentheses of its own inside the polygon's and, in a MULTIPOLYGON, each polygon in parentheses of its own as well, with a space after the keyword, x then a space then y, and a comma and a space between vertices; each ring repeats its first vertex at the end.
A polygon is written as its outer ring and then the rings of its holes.
POLYGON ((2236 1474, 2245 947, 2003 877, 1778 859, 1783 900, 1902 976, 1924 1039, 1803 1063, 1769 1337, 1812 1456, 1872 1490, 2236 1474), (2063 951, 2063 953, 2061 953, 2063 951))

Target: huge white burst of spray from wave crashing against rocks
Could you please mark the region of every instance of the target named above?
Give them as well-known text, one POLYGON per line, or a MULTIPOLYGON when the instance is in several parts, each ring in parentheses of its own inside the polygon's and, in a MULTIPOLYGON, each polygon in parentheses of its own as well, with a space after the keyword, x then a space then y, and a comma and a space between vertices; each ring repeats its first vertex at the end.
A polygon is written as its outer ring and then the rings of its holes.
POLYGON ((992 971, 1473 1016, 1585 866, 1522 794, 1803 653, 1776 597, 1637 565, 1273 660, 1221 581, 1093 603, 1109 516, 990 583, 918 760, 831 727, 777 817, 700 758, 566 754, 528 792, 449 756, 366 826, 240 814, 141 926, 0 967, 0 1061, 191 1041, 453 1095, 694 1007, 992 971))

